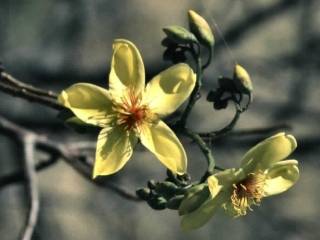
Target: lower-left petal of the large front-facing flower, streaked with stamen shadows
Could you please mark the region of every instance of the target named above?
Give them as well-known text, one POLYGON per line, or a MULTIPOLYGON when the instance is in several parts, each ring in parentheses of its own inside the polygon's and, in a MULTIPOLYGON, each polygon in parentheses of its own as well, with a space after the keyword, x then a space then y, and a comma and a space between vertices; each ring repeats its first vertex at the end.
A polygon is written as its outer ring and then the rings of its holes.
POLYGON ((97 141, 93 177, 119 171, 132 155, 136 137, 120 128, 102 129, 97 141))

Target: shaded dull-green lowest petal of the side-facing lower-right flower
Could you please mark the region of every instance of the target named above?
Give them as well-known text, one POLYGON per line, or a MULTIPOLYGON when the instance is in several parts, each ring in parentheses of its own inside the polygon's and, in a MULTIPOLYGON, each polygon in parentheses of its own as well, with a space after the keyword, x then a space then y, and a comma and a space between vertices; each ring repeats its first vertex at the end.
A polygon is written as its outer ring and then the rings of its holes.
POLYGON ((215 214, 221 204, 225 202, 225 199, 225 194, 218 194, 215 198, 209 198, 197 210, 183 215, 181 219, 181 228, 184 231, 190 231, 202 227, 215 214))

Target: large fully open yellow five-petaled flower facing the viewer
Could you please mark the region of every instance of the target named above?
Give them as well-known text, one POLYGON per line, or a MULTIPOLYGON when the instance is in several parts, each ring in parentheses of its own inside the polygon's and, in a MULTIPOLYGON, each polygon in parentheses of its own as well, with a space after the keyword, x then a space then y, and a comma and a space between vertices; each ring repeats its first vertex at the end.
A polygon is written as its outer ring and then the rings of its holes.
POLYGON ((195 81, 187 64, 177 64, 155 76, 145 88, 138 49, 128 40, 115 40, 109 89, 78 83, 59 96, 59 102, 80 120, 102 128, 93 177, 119 171, 138 138, 171 171, 185 173, 184 148, 160 117, 174 112, 189 97, 195 81))

